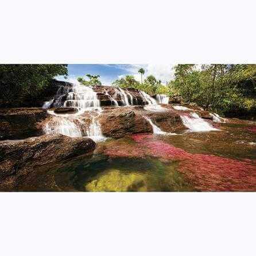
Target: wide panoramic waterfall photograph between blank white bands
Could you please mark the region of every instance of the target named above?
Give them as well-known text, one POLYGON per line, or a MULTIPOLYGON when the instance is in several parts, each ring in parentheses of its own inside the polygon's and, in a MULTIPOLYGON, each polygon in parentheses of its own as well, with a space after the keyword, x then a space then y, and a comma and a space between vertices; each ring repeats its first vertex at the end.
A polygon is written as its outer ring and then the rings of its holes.
POLYGON ((255 64, 1 64, 1 191, 255 191, 255 64))

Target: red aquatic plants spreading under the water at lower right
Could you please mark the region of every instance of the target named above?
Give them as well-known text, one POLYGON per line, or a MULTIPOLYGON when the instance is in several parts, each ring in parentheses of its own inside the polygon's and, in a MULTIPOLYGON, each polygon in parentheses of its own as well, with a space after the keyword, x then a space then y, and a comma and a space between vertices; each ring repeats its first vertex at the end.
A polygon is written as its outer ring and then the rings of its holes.
POLYGON ((209 154, 192 154, 152 135, 133 135, 148 153, 165 160, 177 160, 178 170, 200 191, 255 191, 256 166, 252 160, 238 161, 209 154))

